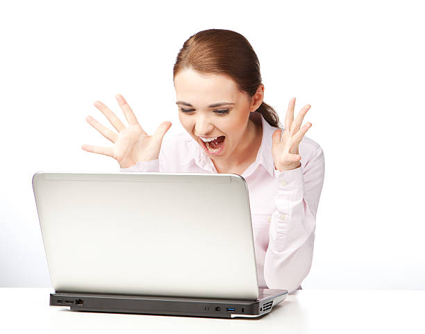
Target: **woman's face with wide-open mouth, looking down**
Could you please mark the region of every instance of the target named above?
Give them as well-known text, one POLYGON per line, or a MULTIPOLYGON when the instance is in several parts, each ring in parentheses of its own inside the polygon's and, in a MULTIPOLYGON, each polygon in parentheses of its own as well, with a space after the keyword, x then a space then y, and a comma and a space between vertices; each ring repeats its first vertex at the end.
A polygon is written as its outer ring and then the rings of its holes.
POLYGON ((204 76, 192 69, 178 72, 174 88, 181 124, 210 158, 226 159, 238 145, 245 147, 249 113, 261 102, 240 92, 227 76, 204 76))

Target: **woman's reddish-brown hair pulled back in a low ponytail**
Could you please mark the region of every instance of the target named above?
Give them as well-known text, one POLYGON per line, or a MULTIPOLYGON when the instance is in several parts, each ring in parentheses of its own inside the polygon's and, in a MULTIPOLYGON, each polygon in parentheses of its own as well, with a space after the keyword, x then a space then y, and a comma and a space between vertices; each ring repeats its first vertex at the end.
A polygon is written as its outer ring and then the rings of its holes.
MULTIPOLYGON (((261 83, 260 62, 255 51, 244 36, 231 30, 208 29, 190 36, 178 52, 173 79, 185 68, 200 74, 229 76, 249 97, 253 97, 261 83)), ((256 111, 271 126, 280 126, 272 106, 263 102, 256 111)))

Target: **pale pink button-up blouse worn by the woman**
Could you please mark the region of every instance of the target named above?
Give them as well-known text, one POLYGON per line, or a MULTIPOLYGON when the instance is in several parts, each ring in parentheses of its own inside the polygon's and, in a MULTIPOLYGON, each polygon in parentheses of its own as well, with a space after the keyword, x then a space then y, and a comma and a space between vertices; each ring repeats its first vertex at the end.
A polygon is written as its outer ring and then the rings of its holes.
MULTIPOLYGON (((304 136, 299 144, 301 167, 274 169, 270 126, 261 118, 263 137, 256 161, 243 173, 247 181, 256 252, 258 287, 301 288, 310 272, 315 241, 316 212, 324 182, 324 153, 304 136)), ((217 173, 199 144, 186 132, 165 135, 158 159, 137 162, 122 172, 217 173)))

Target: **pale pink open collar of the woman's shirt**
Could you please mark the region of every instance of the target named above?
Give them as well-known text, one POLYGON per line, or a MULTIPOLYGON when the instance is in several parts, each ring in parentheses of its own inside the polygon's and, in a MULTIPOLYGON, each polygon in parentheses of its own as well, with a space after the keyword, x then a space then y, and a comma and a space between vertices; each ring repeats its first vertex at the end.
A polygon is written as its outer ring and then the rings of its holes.
MULTIPOLYGON (((276 131, 278 128, 275 128, 274 126, 268 124, 267 121, 264 119, 263 115, 260 114, 260 112, 251 112, 251 114, 249 115, 250 119, 258 117, 260 117, 261 125, 263 126, 261 145, 258 149, 256 161, 253 162, 242 174, 244 178, 255 172, 259 165, 262 165, 263 168, 270 174, 270 176, 274 177, 274 160, 272 157, 272 135, 274 131, 276 131)), ((209 172, 217 172, 211 159, 206 155, 203 149, 193 138, 190 141, 190 154, 188 155, 188 158, 190 160, 193 159, 194 162, 202 169, 206 169, 209 172)))

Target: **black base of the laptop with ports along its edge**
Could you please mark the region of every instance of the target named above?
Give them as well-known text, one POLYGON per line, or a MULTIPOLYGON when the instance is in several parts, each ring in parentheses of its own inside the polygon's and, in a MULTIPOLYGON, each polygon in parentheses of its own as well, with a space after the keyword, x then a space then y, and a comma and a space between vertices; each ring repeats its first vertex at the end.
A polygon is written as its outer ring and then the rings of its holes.
POLYGON ((90 312, 217 318, 260 317, 269 313, 273 306, 288 295, 287 290, 264 291, 256 301, 55 292, 50 294, 50 306, 69 306, 71 310, 90 312))

